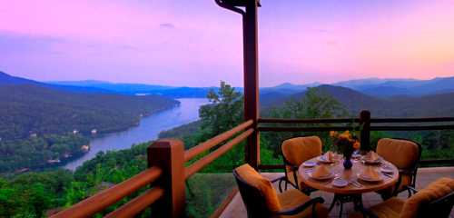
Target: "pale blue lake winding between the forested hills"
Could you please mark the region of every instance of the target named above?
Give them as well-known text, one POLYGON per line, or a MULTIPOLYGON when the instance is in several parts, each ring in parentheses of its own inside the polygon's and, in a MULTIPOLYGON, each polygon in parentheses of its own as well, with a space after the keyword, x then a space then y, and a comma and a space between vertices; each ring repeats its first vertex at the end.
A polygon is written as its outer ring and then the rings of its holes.
POLYGON ((163 130, 169 130, 182 124, 188 124, 199 119, 199 107, 208 104, 206 98, 181 98, 180 106, 172 109, 143 117, 138 126, 134 126, 126 131, 106 134, 99 138, 94 138, 90 142, 90 151, 84 156, 70 163, 66 163, 64 168, 74 170, 87 160, 103 151, 114 151, 130 148, 133 144, 140 144, 158 137, 163 130))

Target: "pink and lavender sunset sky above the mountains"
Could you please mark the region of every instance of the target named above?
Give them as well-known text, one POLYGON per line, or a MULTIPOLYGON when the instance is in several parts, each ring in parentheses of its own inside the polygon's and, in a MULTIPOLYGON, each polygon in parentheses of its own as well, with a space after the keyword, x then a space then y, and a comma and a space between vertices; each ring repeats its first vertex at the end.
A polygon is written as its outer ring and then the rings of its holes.
MULTIPOLYGON (((262 0, 260 83, 454 75, 454 1, 262 0)), ((240 15, 214 0, 0 0, 0 71, 242 86, 240 15)))

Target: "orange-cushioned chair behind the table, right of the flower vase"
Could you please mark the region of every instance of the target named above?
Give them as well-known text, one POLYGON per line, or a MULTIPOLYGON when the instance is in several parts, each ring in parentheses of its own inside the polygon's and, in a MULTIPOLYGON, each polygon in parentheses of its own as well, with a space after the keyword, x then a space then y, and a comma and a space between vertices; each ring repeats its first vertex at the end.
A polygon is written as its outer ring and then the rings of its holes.
POLYGON ((377 154, 396 165, 399 169, 399 180, 394 187, 380 191, 383 199, 407 191, 409 197, 416 188, 416 175, 421 157, 421 145, 417 142, 399 138, 383 138, 377 144, 377 154))

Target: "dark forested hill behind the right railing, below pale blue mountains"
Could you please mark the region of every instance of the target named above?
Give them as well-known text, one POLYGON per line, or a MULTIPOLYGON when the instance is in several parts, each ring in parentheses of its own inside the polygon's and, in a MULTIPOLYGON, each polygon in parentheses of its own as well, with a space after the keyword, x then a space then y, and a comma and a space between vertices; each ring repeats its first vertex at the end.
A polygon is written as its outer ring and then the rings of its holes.
MULTIPOLYGON (((358 115, 361 110, 370 110, 373 117, 454 116, 454 92, 423 96, 376 97, 350 88, 327 84, 316 89, 321 94, 328 94, 339 101, 352 116, 358 115)), ((304 95, 305 92, 301 92, 285 97, 277 95, 278 97, 271 99, 261 99, 262 112, 266 115, 269 109, 280 107, 290 100, 300 100, 304 95)))

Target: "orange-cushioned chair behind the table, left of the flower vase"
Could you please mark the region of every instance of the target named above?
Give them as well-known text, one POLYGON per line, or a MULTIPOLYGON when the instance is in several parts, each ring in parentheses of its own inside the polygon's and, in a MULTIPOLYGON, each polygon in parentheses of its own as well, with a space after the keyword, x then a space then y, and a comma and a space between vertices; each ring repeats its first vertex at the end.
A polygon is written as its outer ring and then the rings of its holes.
POLYGON ((302 183, 298 174, 298 167, 301 163, 321 155, 321 139, 318 136, 306 136, 287 139, 282 142, 281 150, 285 165, 285 177, 279 183, 279 190, 282 192, 281 183, 284 182, 284 190, 290 183, 303 193, 311 194, 315 189, 302 183))

